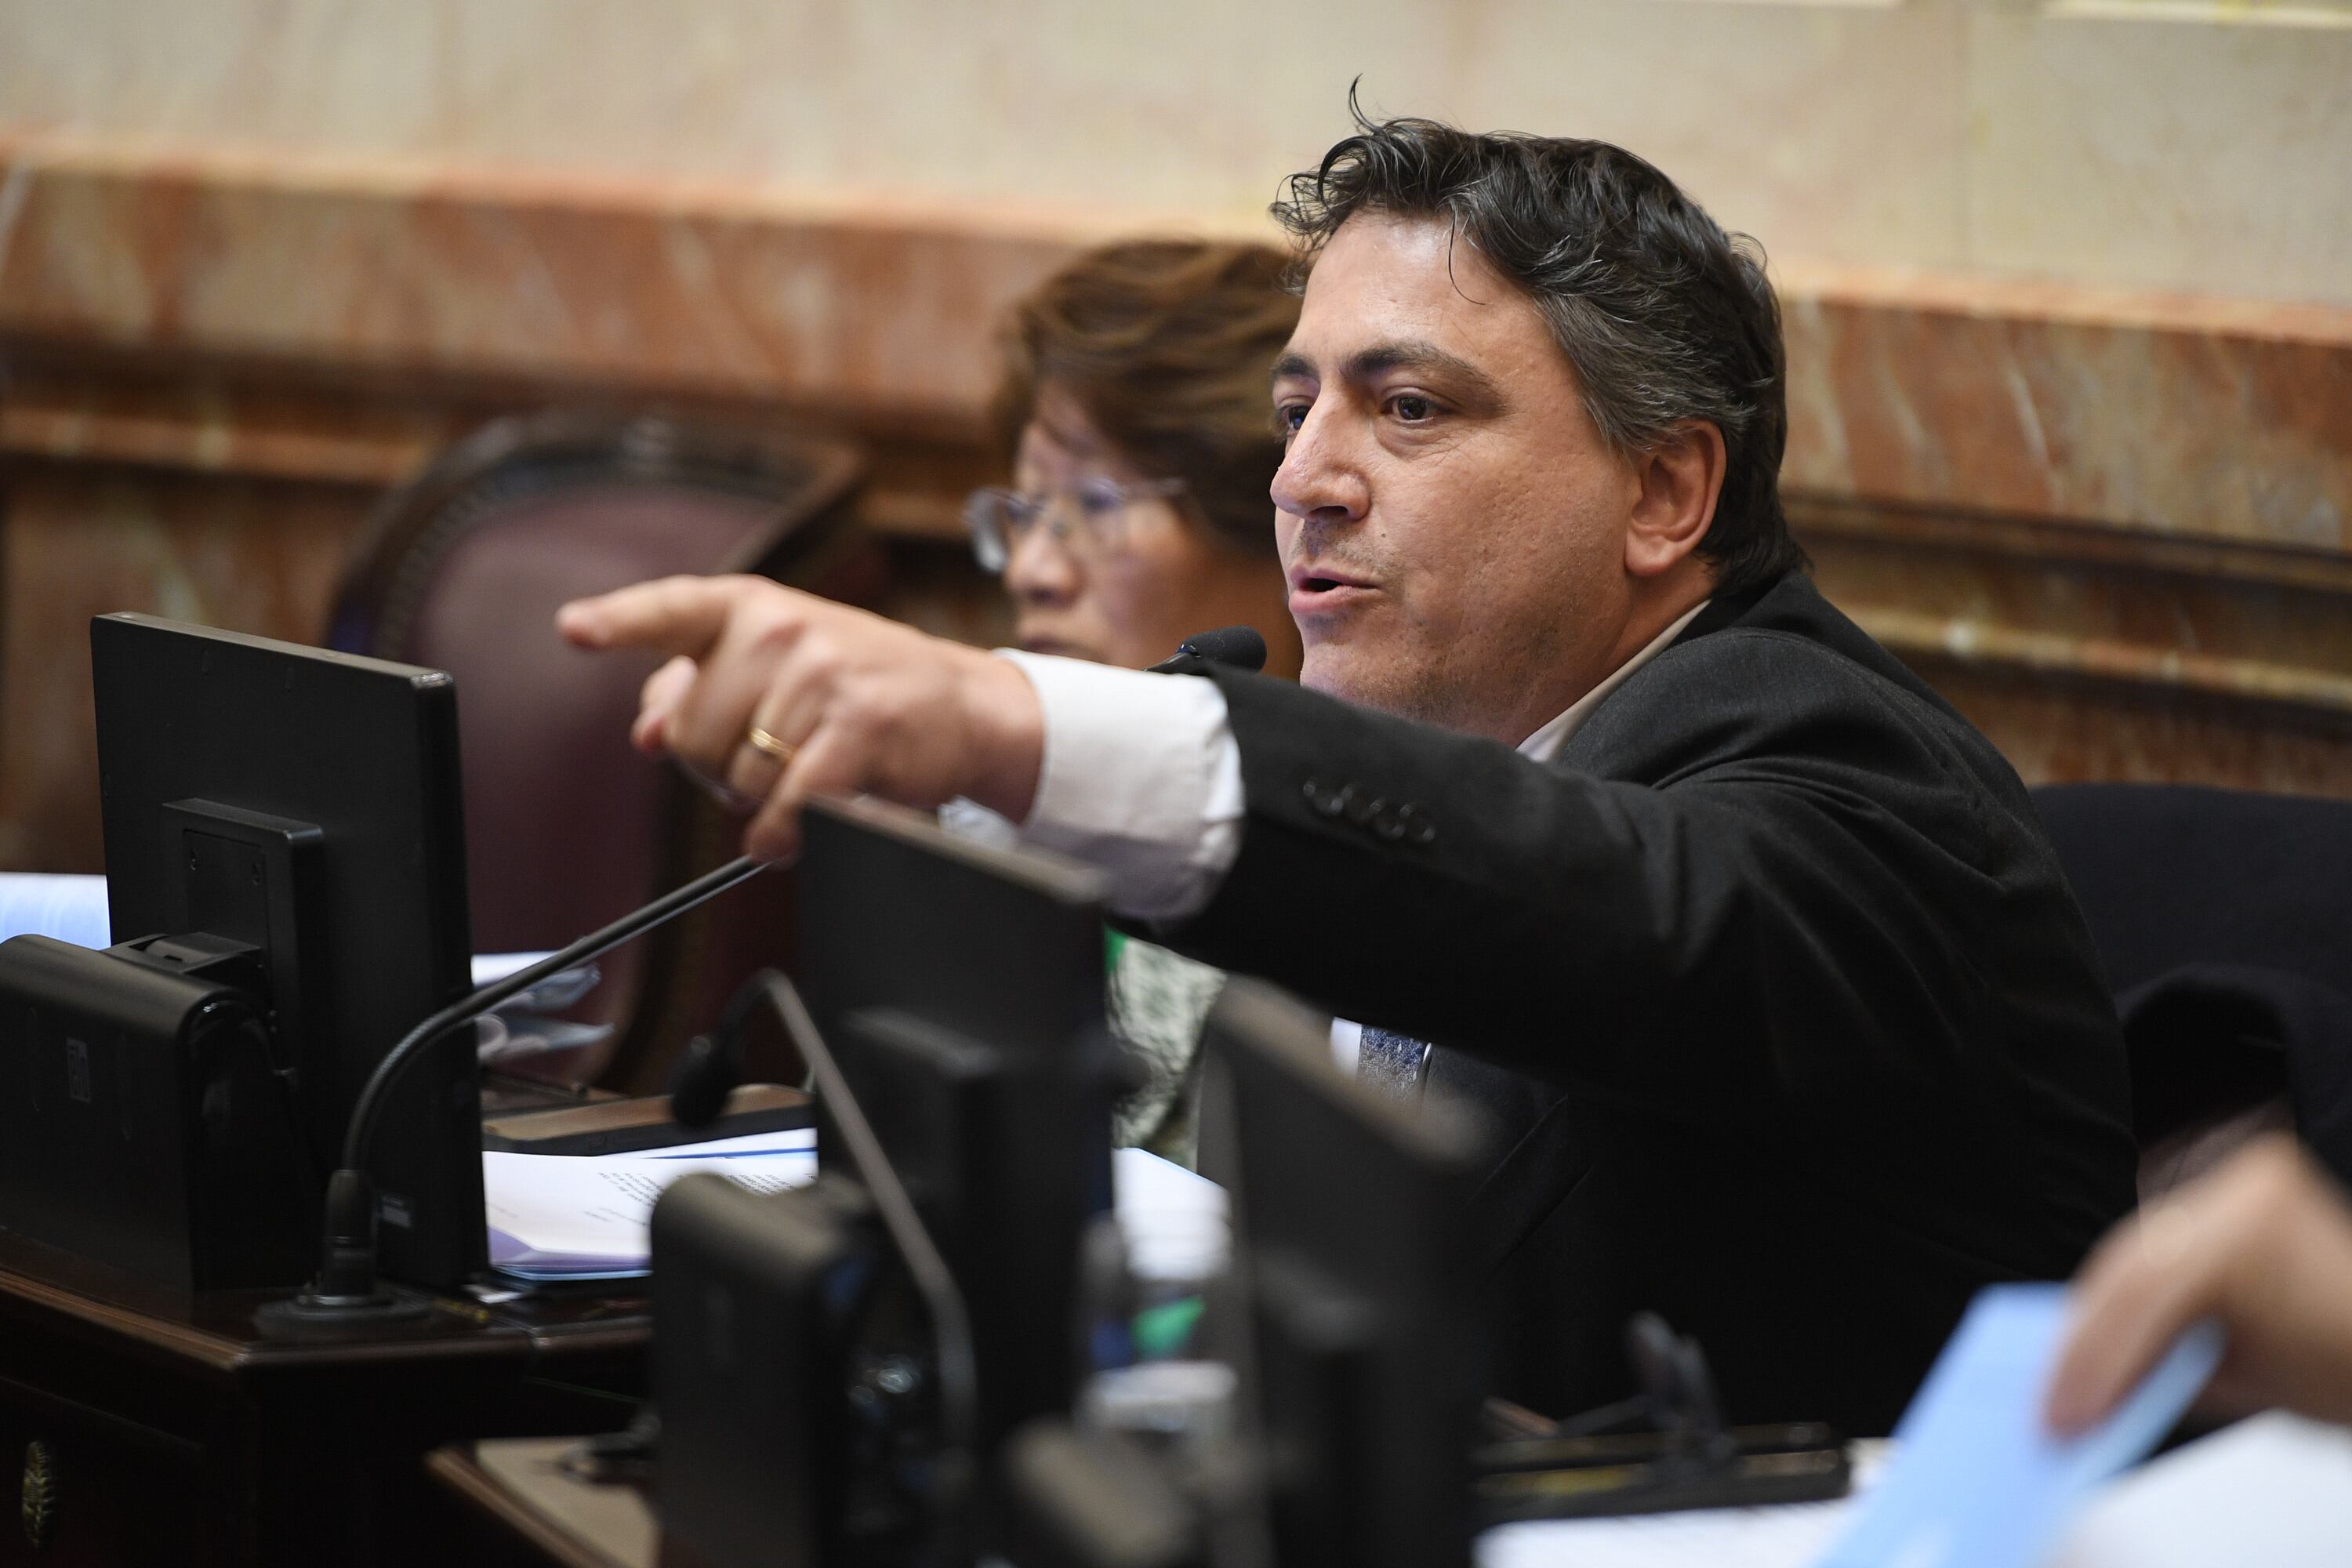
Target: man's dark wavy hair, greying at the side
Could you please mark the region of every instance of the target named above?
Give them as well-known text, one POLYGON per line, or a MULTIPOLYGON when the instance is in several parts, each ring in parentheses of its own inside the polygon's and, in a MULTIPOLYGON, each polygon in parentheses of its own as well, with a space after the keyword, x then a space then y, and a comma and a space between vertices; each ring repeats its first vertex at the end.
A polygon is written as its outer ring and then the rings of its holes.
POLYGON ((1359 212, 1444 219, 1526 289, 1613 449, 1646 451, 1686 418, 1724 433, 1724 491, 1698 545, 1717 595, 1802 567, 1780 512, 1788 393, 1764 249, 1606 141, 1369 120, 1352 92, 1348 108, 1357 134, 1272 207, 1305 266, 1359 212))

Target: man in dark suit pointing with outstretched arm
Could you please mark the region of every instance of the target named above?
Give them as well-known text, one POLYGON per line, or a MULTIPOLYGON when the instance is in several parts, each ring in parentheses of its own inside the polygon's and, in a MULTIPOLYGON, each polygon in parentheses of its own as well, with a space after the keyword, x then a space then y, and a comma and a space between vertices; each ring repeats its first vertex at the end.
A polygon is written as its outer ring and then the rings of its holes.
MULTIPOLYGON (((1468 1100, 1501 1392, 1882 1432, 1994 1279, 2131 1206, 2122 1041, 2011 769, 1804 578, 1762 261, 1590 141, 1359 125, 1277 216, 1301 686, 957 649, 771 583, 569 607, 637 741, 767 804, 971 797, 1468 1100)), ((1049 498, 1047 498, 1049 501, 1049 498)))

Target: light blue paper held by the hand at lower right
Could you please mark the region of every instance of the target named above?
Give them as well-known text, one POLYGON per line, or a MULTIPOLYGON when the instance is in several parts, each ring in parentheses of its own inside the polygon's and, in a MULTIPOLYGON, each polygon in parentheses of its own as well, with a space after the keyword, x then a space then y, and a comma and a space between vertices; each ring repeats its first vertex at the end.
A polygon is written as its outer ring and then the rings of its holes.
POLYGON ((1816 1568, 2034 1568, 2074 1507, 2180 1420, 2220 1361, 2199 1324, 2103 1425, 2058 1439, 2042 1399, 2065 1286, 1994 1286, 1943 1347, 1896 1427, 1896 1458, 1816 1568))

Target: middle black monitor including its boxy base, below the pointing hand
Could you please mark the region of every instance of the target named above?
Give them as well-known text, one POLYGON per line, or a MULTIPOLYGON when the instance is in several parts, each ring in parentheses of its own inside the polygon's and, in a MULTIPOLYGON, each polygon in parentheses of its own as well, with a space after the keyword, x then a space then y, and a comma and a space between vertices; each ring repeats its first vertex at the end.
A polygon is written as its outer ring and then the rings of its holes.
MULTIPOLYGON (((802 832, 800 992, 964 1300, 985 1479, 1077 1375, 1080 1244, 1110 1204, 1103 879, 877 802, 811 804, 802 832)), ((938 1326, 823 1105, 818 1161, 816 1187, 689 1178, 654 1208, 663 1530, 715 1566, 993 1533, 985 1481, 936 1507, 938 1326)))

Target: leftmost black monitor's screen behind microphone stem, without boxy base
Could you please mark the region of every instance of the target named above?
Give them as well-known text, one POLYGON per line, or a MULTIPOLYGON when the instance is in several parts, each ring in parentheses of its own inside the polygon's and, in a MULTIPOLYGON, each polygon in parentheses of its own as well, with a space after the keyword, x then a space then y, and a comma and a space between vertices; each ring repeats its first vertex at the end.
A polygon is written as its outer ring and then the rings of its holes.
MULTIPOLYGON (((470 987, 456 686, 132 614, 89 623, 89 658, 113 940, 256 950, 325 1175, 369 1070, 470 987)), ((433 1051, 369 1159, 386 1274, 454 1288, 485 1267, 480 1147, 473 1051, 433 1051)))

